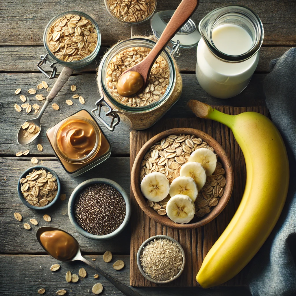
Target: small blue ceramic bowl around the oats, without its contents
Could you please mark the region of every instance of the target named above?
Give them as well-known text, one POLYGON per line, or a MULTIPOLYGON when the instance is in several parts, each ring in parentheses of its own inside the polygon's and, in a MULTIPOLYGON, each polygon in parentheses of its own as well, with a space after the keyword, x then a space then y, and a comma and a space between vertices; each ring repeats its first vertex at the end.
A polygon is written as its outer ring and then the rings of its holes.
POLYGON ((31 168, 28 168, 28 170, 25 170, 22 175, 20 176, 19 178, 19 181, 17 183, 17 192, 19 194, 19 197, 20 197, 20 200, 24 203, 25 206, 29 207, 30 209, 33 209, 33 210, 46 210, 48 209, 49 207, 51 207, 52 205, 54 205, 57 200, 59 199, 59 195, 61 193, 61 183, 59 181, 59 177, 57 176, 57 173, 54 171, 54 170, 51 170, 50 168, 46 168, 42 165, 36 165, 34 167, 31 167, 31 168), (25 200, 20 188, 21 188, 21 183, 20 183, 20 179, 22 178, 25 178, 25 176, 28 175, 28 173, 32 172, 32 170, 35 169, 35 170, 41 170, 41 169, 44 169, 46 170, 47 172, 50 172, 53 176, 55 176, 57 178, 57 195, 55 196, 55 198, 47 205, 43 206, 43 207, 36 207, 35 205, 31 205, 27 202, 27 200, 25 200))

